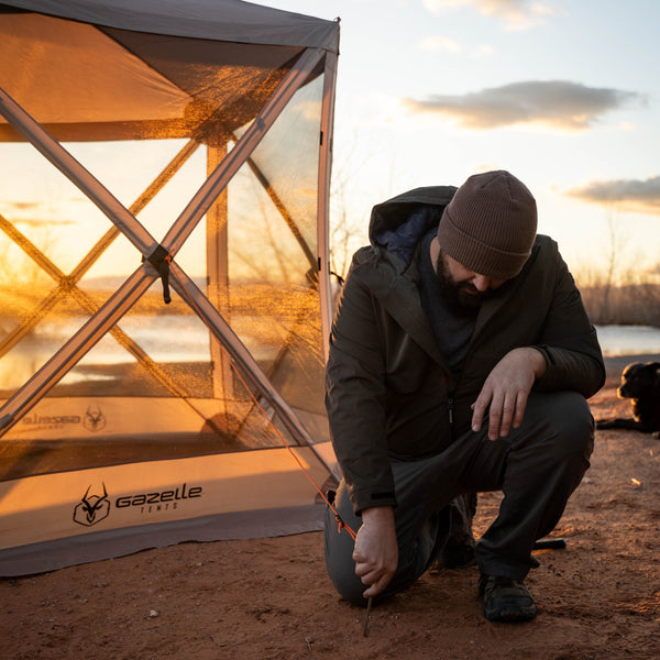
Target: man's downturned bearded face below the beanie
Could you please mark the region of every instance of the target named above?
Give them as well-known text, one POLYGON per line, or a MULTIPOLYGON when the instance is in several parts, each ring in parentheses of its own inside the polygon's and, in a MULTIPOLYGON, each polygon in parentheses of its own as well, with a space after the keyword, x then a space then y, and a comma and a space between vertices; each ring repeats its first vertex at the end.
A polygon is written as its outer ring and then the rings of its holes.
POLYGON ((459 314, 476 314, 482 302, 505 282, 470 271, 442 250, 438 253, 436 272, 446 301, 459 314))

